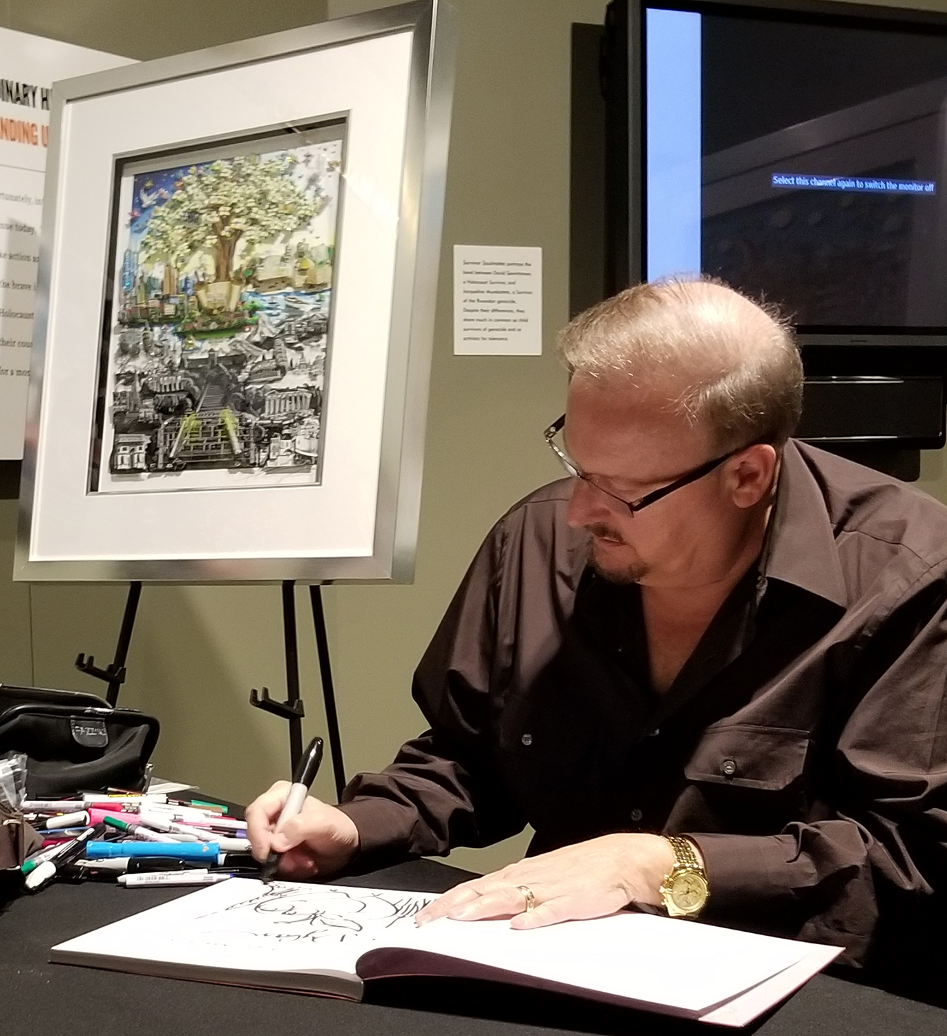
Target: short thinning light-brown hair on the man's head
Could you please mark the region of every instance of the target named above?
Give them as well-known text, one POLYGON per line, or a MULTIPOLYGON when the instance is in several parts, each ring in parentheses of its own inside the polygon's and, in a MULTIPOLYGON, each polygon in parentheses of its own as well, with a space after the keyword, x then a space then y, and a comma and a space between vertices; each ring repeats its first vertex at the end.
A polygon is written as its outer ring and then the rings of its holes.
POLYGON ((802 413, 802 363, 788 322, 719 281, 639 284, 575 317, 559 336, 570 375, 668 394, 722 451, 781 447, 802 413))

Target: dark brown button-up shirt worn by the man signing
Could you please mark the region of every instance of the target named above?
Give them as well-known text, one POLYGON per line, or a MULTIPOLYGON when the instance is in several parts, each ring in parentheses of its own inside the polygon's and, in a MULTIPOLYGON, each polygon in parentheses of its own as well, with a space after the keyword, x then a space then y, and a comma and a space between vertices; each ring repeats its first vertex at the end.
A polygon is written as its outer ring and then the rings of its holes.
POLYGON ((947 892, 947 508, 791 441, 758 564, 657 695, 569 493, 475 558, 415 674, 430 730, 346 789, 366 858, 687 834, 706 919, 900 954, 947 892))

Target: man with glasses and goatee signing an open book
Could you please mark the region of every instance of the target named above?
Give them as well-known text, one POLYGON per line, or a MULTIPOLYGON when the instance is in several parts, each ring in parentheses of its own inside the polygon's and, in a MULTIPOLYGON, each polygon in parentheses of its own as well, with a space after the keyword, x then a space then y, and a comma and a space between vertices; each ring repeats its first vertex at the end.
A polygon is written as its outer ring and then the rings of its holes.
POLYGON ((274 785, 255 853, 321 877, 528 823, 420 920, 632 904, 900 946, 945 868, 947 509, 790 439, 791 333, 722 285, 631 288, 562 352, 572 479, 475 558, 415 674, 431 729, 280 834, 274 785))

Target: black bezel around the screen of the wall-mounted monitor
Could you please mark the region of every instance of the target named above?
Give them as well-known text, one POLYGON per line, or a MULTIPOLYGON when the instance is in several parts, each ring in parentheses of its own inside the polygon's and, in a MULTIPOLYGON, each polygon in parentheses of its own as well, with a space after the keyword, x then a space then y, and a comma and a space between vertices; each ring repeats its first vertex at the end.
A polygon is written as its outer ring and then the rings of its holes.
MULTIPOLYGON (((915 30, 947 39, 947 13, 848 0, 611 0, 606 11, 602 60, 603 91, 609 98, 606 133, 612 152, 606 162, 608 294, 638 283, 644 276, 648 244, 644 11, 648 7, 745 18, 766 17, 771 11, 773 20, 785 21, 787 17, 794 20, 797 16, 803 22, 817 17, 827 24, 915 30), (626 98, 624 110, 621 98, 626 98)), ((815 361, 814 353, 819 354, 820 373, 887 373, 894 362, 901 373, 947 376, 947 325, 846 328, 801 324, 796 329, 804 357, 808 354, 815 361), (868 356, 866 349, 872 355, 868 356)))

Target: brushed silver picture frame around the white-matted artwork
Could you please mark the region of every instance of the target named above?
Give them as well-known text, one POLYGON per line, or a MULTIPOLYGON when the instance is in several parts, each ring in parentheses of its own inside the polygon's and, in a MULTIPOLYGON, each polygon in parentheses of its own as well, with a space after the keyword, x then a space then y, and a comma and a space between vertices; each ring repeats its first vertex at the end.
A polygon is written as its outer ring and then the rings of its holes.
MULTIPOLYGON (((126 65, 54 85, 42 208, 33 352, 21 483, 13 579, 27 582, 221 583, 297 580, 409 582, 421 507, 434 310, 443 217, 456 25, 441 0, 414 2, 305 28, 126 65), (393 33, 411 33, 400 205, 397 213, 390 339, 384 380, 374 540, 370 556, 89 556, 47 559, 31 550, 37 507, 37 455, 48 334, 54 288, 54 252, 60 212, 57 184, 68 106, 109 94, 191 77, 204 77, 275 58, 302 54, 393 33)), ((212 143, 208 137, 201 143, 212 143)), ((195 142, 189 140, 189 146, 195 142)), ((124 155, 127 157, 127 154, 124 155)), ((344 241, 341 248, 345 249, 344 241)), ((105 292, 105 287, 103 288, 105 292)), ((77 434, 84 432, 77 429, 77 434)), ((257 492, 250 490, 249 492, 257 492)), ((278 492, 264 489, 262 492, 278 492)), ((192 495, 192 494, 189 494, 192 495)))

